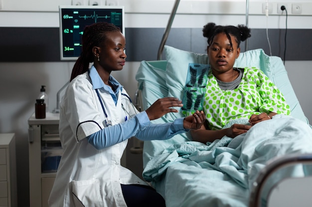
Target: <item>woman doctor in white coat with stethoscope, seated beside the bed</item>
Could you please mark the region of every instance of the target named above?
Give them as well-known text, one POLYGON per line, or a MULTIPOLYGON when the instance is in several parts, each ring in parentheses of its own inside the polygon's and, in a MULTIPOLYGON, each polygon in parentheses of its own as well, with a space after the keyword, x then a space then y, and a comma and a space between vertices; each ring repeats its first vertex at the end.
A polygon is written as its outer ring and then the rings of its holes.
POLYGON ((168 139, 205 121, 196 112, 173 123, 150 120, 177 112, 180 100, 158 99, 139 113, 111 71, 123 69, 126 40, 113 24, 87 26, 82 53, 60 107, 63 155, 50 194, 50 207, 164 207, 163 198, 146 182, 120 165, 128 138, 168 139), (94 65, 89 68, 89 63, 94 65))

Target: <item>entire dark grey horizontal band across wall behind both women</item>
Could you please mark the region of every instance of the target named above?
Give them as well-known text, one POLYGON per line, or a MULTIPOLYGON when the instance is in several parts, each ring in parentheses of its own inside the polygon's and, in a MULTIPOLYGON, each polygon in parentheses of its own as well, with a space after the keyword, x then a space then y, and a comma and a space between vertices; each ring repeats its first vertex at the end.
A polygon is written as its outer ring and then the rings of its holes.
MULTIPOLYGON (((164 28, 126 28, 127 61, 157 60, 164 28)), ((269 29, 273 56, 284 60, 285 29, 269 29)), ((59 62, 59 28, 0 27, 0 62, 59 62)), ((252 29, 248 49, 262 48, 270 55, 266 29, 252 29)), ((286 61, 312 60, 312 29, 287 30, 286 61)), ((166 45, 206 53, 200 28, 172 28, 166 45)), ((245 51, 245 42, 241 43, 245 51)), ((165 57, 162 55, 162 60, 165 57)))

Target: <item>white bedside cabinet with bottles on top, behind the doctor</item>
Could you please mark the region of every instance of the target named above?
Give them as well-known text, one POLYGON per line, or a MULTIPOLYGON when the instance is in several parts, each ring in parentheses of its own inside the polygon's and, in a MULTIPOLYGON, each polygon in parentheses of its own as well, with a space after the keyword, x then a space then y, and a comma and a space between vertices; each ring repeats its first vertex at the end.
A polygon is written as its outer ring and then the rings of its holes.
POLYGON ((30 207, 48 207, 49 195, 62 154, 58 132, 59 114, 28 119, 30 207))

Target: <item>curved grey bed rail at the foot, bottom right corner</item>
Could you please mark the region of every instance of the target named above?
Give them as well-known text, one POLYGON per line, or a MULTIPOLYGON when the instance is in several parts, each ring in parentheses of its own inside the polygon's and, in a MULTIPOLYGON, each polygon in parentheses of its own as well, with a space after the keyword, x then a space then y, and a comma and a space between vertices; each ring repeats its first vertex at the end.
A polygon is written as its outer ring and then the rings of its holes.
POLYGON ((312 164, 312 154, 290 154, 272 160, 260 172, 257 180, 253 183, 253 190, 250 194, 249 207, 261 207, 261 193, 266 181, 277 170, 296 164, 312 164))

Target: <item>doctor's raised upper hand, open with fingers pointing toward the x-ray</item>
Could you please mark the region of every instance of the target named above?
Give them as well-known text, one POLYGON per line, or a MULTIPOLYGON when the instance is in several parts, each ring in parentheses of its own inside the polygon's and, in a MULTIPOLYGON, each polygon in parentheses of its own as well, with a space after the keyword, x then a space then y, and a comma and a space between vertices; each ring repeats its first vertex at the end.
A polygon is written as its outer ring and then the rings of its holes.
POLYGON ((182 107, 182 101, 180 101, 177 98, 173 97, 165 97, 160 98, 157 101, 155 101, 152 106, 150 106, 145 112, 148 114, 150 120, 155 120, 166 113, 175 112, 177 113, 178 110, 170 108, 170 107, 182 107))

